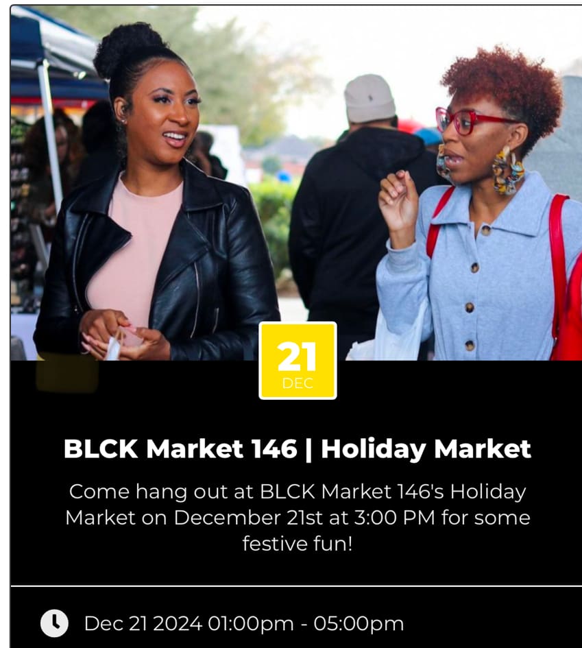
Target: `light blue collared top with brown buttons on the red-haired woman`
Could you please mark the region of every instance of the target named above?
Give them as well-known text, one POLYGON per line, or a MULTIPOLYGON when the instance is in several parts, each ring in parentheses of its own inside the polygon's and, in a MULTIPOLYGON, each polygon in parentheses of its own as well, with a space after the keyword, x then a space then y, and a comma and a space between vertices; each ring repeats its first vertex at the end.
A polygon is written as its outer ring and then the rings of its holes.
MULTIPOLYGON (((411 326, 428 290, 422 339, 435 332, 436 360, 547 360, 553 347, 554 284, 548 219, 550 192, 539 173, 526 173, 520 191, 490 229, 477 237, 469 220, 471 189, 457 187, 434 219, 441 225, 433 259, 426 234, 446 187, 420 197, 416 241, 378 264, 380 308, 393 333, 411 326)), ((568 276, 582 252, 582 204, 562 210, 568 276)))

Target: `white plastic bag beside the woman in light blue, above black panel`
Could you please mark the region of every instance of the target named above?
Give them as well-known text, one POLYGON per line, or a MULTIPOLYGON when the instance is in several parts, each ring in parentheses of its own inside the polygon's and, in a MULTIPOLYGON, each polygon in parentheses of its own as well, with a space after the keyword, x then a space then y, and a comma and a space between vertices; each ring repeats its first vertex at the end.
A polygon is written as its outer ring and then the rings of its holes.
POLYGON ((428 299, 424 298, 414 324, 401 335, 391 333, 386 326, 382 309, 378 309, 376 337, 365 342, 354 342, 346 360, 416 360, 422 336, 424 313, 428 299))

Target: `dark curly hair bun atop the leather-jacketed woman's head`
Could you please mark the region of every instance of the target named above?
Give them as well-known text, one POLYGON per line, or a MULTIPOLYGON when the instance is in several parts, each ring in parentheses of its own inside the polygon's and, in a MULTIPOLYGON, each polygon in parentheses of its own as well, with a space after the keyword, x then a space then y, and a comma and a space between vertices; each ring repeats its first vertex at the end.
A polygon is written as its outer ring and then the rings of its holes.
POLYGON ((123 58, 130 56, 136 49, 152 46, 167 47, 167 43, 148 23, 119 25, 99 43, 93 65, 101 79, 110 79, 123 58))

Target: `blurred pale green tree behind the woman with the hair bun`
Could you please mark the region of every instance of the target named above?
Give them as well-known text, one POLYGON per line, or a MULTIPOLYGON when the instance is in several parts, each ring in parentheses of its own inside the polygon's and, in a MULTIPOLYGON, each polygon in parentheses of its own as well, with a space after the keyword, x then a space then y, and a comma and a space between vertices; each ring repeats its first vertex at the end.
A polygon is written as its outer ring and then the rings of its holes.
POLYGON ((113 27, 150 23, 194 73, 202 122, 236 124, 241 142, 260 146, 284 132, 289 104, 330 87, 313 72, 317 57, 304 47, 278 53, 258 51, 252 36, 232 19, 221 27, 196 26, 192 6, 39 5, 38 10, 100 40, 113 27))

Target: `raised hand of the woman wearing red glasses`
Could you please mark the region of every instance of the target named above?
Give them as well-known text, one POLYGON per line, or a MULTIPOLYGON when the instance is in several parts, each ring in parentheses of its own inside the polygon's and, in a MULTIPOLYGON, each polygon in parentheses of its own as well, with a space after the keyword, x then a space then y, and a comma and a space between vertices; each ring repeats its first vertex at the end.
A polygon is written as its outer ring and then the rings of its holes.
POLYGON ((378 206, 390 230, 393 249, 409 248, 415 241, 418 194, 408 171, 390 173, 380 182, 378 206))

